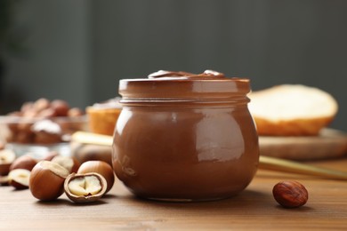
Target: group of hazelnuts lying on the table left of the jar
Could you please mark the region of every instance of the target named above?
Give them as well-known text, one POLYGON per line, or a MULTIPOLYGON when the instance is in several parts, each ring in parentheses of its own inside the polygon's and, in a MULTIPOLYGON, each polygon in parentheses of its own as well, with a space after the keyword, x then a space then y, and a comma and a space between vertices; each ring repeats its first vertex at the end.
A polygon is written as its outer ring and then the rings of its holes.
POLYGON ((65 193, 72 202, 91 203, 107 194, 115 182, 109 163, 87 161, 52 152, 43 160, 0 150, 0 185, 29 189, 40 201, 53 201, 65 193))

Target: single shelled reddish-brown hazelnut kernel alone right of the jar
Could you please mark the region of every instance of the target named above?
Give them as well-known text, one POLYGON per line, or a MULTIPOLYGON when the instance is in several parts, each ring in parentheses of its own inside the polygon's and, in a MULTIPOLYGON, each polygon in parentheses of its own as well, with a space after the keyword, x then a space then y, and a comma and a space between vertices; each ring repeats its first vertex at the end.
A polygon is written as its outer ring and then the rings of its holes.
POLYGON ((309 194, 303 185, 297 181, 281 181, 272 189, 275 200, 286 208, 300 207, 305 204, 309 194))

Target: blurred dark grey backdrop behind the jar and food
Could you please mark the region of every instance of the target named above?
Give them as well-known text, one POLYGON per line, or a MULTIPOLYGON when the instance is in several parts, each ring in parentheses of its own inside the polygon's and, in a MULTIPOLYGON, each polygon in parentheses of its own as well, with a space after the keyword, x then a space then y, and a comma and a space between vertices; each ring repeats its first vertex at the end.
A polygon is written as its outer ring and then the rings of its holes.
POLYGON ((85 108, 122 78, 214 69, 254 91, 305 84, 339 103, 347 131, 345 0, 1 0, 0 112, 28 100, 85 108))

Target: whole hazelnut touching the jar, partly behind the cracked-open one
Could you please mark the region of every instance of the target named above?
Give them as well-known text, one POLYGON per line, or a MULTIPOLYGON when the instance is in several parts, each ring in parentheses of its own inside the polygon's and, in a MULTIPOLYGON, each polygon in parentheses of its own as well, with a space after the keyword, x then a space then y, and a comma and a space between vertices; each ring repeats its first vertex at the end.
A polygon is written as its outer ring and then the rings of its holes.
POLYGON ((77 173, 88 172, 99 173, 106 179, 108 187, 106 188, 105 194, 107 194, 109 190, 113 187, 115 183, 115 174, 109 163, 103 161, 87 161, 85 163, 82 163, 77 171, 77 173))

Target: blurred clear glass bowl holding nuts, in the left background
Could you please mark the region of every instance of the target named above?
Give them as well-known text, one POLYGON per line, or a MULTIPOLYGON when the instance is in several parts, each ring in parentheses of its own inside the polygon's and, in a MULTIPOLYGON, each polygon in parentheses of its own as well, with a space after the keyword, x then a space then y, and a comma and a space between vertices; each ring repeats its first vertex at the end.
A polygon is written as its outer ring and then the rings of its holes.
POLYGON ((87 116, 0 116, 0 136, 16 155, 27 152, 67 152, 70 135, 86 131, 87 116))

